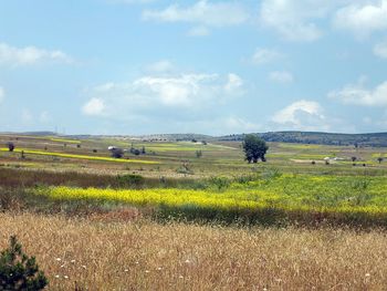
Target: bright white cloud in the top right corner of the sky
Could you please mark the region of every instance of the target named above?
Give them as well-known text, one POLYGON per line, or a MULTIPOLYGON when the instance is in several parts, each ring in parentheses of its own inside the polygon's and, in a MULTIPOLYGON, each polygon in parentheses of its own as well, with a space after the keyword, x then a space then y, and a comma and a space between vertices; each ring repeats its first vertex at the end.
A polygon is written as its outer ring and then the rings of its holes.
POLYGON ((334 18, 334 25, 349 30, 364 38, 374 31, 387 29, 387 0, 352 1, 341 8, 334 18))

